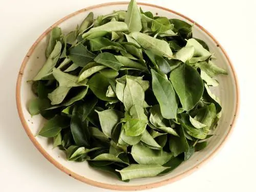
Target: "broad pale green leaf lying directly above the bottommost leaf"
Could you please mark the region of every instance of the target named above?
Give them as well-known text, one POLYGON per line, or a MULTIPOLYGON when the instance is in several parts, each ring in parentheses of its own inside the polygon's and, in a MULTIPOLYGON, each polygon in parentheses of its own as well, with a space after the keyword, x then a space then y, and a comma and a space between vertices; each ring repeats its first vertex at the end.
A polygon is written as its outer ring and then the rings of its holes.
POLYGON ((140 143, 133 145, 131 154, 137 163, 144 165, 163 165, 173 157, 171 153, 162 150, 152 150, 140 143))

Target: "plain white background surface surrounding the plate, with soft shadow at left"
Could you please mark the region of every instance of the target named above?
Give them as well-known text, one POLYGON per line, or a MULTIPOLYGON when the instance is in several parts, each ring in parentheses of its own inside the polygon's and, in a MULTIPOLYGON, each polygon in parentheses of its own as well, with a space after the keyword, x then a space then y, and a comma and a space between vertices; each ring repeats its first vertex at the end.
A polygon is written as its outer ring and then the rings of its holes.
MULTIPOLYGON (((79 182, 48 162, 25 134, 15 103, 18 70, 36 38, 60 18, 108 1, 0 0, 1 192, 110 191, 79 182)), ((173 184, 148 191, 256 191, 256 0, 138 2, 178 11, 196 20, 212 33, 233 62, 241 95, 237 124, 218 155, 196 173, 173 184)))

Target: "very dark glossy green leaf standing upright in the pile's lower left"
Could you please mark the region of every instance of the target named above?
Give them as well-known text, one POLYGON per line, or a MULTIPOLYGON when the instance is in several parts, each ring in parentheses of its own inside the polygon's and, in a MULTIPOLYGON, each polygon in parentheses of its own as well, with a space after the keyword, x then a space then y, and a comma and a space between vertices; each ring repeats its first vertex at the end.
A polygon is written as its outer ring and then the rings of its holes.
POLYGON ((90 146, 90 131, 86 121, 82 121, 79 116, 73 115, 70 122, 70 129, 76 145, 90 146))

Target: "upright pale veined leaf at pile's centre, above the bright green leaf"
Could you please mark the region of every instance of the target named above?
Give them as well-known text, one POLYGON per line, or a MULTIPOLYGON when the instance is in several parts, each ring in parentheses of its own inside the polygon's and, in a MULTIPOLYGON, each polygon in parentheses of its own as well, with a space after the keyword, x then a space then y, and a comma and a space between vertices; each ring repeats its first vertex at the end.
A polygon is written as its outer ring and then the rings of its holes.
POLYGON ((123 91, 123 104, 127 111, 130 111, 133 105, 143 106, 145 93, 141 85, 126 77, 126 86, 123 91))

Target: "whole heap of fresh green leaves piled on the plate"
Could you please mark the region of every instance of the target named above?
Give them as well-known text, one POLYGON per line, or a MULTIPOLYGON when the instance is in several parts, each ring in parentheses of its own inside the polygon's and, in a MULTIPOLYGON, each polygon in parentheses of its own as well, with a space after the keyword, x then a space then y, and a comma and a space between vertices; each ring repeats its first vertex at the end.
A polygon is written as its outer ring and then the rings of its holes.
POLYGON ((221 116, 209 86, 226 72, 205 42, 133 0, 66 35, 53 28, 46 57, 28 106, 49 120, 38 134, 121 180, 169 173, 206 147, 221 116))

